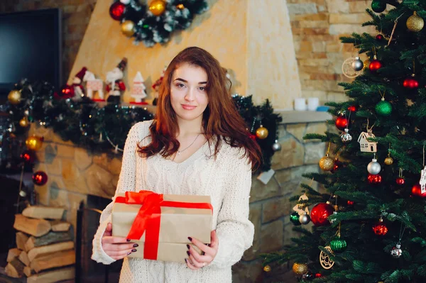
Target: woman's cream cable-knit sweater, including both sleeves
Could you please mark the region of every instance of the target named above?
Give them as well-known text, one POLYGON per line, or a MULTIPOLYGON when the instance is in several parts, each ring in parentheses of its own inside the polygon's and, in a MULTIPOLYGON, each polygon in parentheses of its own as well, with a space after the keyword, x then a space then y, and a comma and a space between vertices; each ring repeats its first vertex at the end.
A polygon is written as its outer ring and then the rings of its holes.
MULTIPOLYGON (((244 250, 250 248, 253 242, 254 227, 249 221, 249 160, 241 158, 242 150, 231 148, 226 143, 222 143, 216 159, 210 157, 212 151, 208 143, 181 163, 160 155, 141 158, 136 152, 136 144, 141 142, 147 145, 151 141, 146 138, 151 123, 136 123, 129 131, 116 193, 146 189, 159 194, 211 196, 212 230, 217 231, 219 250, 210 265, 196 271, 187 268, 183 258, 182 263, 178 263, 126 257, 121 268, 120 282, 231 282, 231 266, 241 259, 244 250)), ((106 265, 114 262, 102 249, 101 242, 107 223, 111 222, 111 209, 112 203, 102 212, 93 240, 92 259, 106 265)))

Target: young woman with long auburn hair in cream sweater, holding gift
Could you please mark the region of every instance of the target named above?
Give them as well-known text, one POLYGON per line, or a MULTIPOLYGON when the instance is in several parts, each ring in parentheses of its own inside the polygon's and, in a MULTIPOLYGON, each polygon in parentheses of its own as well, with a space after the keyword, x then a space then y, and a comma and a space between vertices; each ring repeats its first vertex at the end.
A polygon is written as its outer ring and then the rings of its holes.
POLYGON ((261 162, 258 144, 229 93, 219 62, 201 48, 186 48, 170 62, 160 86, 153 121, 136 123, 126 139, 116 193, 209 195, 212 242, 190 240, 182 263, 129 258, 138 247, 111 236, 111 208, 104 209, 93 240, 92 259, 124 258, 120 282, 231 282, 231 266, 253 242, 249 221, 251 170, 261 162))

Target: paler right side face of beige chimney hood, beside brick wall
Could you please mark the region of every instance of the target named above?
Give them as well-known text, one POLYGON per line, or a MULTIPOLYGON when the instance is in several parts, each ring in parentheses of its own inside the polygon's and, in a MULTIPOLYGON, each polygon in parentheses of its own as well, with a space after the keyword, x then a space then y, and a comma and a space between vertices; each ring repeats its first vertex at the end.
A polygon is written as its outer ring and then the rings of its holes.
POLYGON ((270 99, 275 110, 293 107, 301 96, 299 72, 285 0, 249 0, 247 87, 253 102, 270 99))

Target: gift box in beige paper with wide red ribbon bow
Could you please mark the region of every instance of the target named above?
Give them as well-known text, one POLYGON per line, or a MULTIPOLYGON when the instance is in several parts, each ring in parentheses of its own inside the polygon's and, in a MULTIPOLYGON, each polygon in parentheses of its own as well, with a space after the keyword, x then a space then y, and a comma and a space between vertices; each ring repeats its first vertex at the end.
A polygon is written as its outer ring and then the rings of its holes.
POLYGON ((210 243, 212 211, 210 196, 126 192, 114 201, 112 235, 138 244, 129 257, 185 262, 188 237, 210 243))

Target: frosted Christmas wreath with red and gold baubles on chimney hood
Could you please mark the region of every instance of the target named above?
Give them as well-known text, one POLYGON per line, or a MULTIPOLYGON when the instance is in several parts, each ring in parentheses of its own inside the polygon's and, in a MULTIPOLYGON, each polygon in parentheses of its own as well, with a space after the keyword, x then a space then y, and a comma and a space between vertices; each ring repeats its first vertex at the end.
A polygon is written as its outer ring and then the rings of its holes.
POLYGON ((152 0, 148 9, 138 0, 119 0, 109 8, 109 15, 121 23, 121 32, 134 43, 147 47, 167 43, 175 30, 188 28, 196 14, 207 11, 206 0, 152 0))

